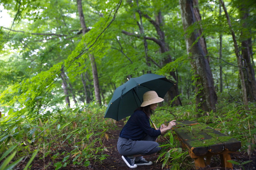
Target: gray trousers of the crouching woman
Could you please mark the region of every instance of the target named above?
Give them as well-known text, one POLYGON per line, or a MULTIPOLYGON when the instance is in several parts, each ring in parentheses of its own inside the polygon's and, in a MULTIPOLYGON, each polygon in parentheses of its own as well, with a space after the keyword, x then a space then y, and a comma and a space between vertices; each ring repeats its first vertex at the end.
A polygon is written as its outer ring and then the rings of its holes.
POLYGON ((132 140, 119 137, 117 141, 117 150, 121 155, 150 155, 158 152, 161 148, 155 142, 157 137, 146 136, 142 140, 132 140))

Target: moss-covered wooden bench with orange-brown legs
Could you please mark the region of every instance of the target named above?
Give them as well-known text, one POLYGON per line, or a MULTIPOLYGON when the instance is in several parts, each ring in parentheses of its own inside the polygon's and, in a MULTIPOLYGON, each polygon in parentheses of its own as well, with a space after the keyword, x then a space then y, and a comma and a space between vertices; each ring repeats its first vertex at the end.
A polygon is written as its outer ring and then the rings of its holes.
POLYGON ((173 130, 182 143, 187 147, 196 168, 202 168, 211 163, 212 155, 220 155, 221 165, 233 169, 230 153, 241 148, 241 142, 210 128, 207 125, 190 121, 178 121, 173 130), (204 161, 206 157, 206 161, 204 161))

